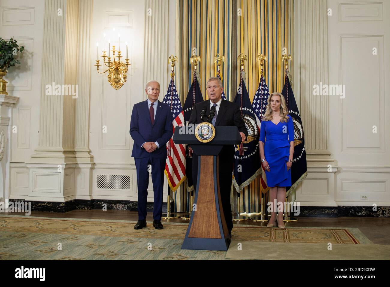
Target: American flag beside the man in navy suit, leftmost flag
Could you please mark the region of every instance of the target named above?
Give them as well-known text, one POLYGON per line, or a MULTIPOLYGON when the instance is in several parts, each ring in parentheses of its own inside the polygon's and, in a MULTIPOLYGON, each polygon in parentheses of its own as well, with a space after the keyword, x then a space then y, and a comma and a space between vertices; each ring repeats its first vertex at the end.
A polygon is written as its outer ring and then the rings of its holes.
MULTIPOLYGON (((175 133, 176 127, 184 125, 184 113, 173 78, 171 78, 163 103, 171 109, 173 132, 175 133)), ((167 154, 165 175, 172 191, 176 191, 186 178, 186 147, 184 144, 175 144, 172 136, 167 143, 167 154)))

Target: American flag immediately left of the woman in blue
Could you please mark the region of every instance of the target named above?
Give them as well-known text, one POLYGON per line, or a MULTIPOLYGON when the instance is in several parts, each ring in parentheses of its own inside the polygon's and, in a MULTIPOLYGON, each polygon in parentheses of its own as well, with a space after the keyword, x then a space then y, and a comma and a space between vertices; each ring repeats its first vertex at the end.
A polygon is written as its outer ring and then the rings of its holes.
MULTIPOLYGON (((257 91, 255 93, 255 96, 254 96, 253 102, 252 102, 252 108, 256 114, 256 121, 257 121, 257 126, 259 129, 260 129, 260 124, 261 124, 261 119, 264 116, 264 113, 266 112, 266 109, 267 109, 268 97, 269 97, 268 86, 266 84, 266 80, 264 79, 264 77, 261 76, 259 87, 257 88, 257 91)), ((266 173, 265 173, 265 170, 263 168, 263 165, 261 165, 261 169, 262 169, 261 191, 263 193, 265 193, 268 191, 268 187, 267 187, 266 173)))

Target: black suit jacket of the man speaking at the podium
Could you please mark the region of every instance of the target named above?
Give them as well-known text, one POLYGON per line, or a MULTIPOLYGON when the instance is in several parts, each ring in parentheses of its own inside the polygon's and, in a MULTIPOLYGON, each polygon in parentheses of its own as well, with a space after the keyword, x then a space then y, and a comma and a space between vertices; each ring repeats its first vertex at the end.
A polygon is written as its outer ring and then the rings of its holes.
MULTIPOLYGON (((210 114, 210 100, 197 103, 191 112, 190 121, 188 123, 195 124, 201 123, 200 112, 203 108, 206 108, 206 116, 210 114)), ((204 118, 206 121, 206 118, 204 118)), ((243 132, 245 136, 248 136, 248 130, 246 130, 245 123, 241 119, 241 112, 238 105, 229 102, 228 100, 222 100, 217 114, 216 126, 236 126, 239 132, 243 132)))

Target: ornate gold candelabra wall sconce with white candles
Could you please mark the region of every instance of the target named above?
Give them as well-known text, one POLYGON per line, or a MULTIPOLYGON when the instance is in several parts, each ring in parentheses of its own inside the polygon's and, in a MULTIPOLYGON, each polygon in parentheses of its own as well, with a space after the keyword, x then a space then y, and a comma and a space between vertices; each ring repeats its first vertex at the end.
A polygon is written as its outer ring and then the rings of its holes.
MULTIPOLYGON (((109 45, 109 47, 110 47, 110 45, 109 45)), ((110 48, 108 48, 108 49, 110 49, 110 48)), ((128 48, 126 45, 126 58, 128 58, 127 49, 128 48)), ((103 57, 103 62, 108 67, 107 70, 105 70, 104 72, 99 72, 99 67, 102 66, 102 65, 99 65, 99 63, 100 63, 99 58, 97 58, 96 65, 94 65, 94 66, 96 67, 97 73, 99 73, 99 74, 104 74, 104 73, 108 72, 108 75, 107 75, 108 82, 111 84, 111 86, 115 90, 118 90, 126 82, 127 71, 128 71, 129 65, 131 65, 131 64, 129 64, 129 59, 125 59, 126 63, 121 61, 121 58, 123 58, 123 56, 121 56, 121 51, 115 50, 115 45, 112 45, 111 52, 112 52, 113 61, 111 61, 110 50, 109 50, 108 56, 106 55, 105 50, 103 50, 103 55, 100 56, 100 57, 103 57), (117 56, 115 56, 115 53, 117 53, 117 56), (115 60, 115 57, 117 58, 117 60, 115 60), (106 61, 106 58, 107 58, 107 61, 106 61)), ((97 47, 96 47, 96 56, 97 56, 97 47)))

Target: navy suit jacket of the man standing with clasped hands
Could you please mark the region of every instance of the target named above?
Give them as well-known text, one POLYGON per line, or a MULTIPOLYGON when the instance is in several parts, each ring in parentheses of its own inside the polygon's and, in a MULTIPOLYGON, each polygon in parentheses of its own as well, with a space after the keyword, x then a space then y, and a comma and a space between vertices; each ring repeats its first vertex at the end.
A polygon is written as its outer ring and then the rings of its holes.
POLYGON ((136 103, 131 112, 130 135, 134 140, 132 157, 156 157, 160 159, 167 158, 167 148, 165 145, 172 137, 172 112, 168 105, 156 101, 158 103, 154 122, 150 119, 149 107, 147 100, 136 103), (144 148, 141 148, 145 142, 156 141, 160 148, 149 153, 144 148))

